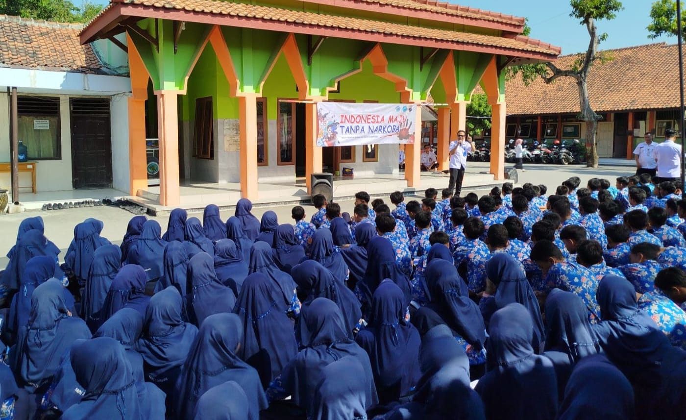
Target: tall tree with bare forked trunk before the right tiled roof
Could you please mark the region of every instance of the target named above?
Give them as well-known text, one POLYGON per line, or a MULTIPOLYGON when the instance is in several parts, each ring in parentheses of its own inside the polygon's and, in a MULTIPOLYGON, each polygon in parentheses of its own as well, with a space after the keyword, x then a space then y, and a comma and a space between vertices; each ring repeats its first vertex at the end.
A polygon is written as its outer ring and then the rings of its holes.
POLYGON ((622 10, 622 2, 619 0, 571 0, 571 13, 569 16, 579 19, 581 25, 585 25, 589 32, 589 47, 585 54, 575 60, 571 69, 559 69, 552 62, 539 65, 524 65, 510 69, 510 77, 521 74, 525 84, 537 77, 543 78, 546 83, 552 83, 558 78, 573 78, 579 92, 579 104, 581 112, 578 117, 586 123, 586 149, 588 167, 598 167, 598 150, 595 144, 595 129, 598 126, 600 115, 593 111, 589 100, 587 78, 591 67, 596 61, 602 62, 609 57, 598 52, 600 41, 607 38, 607 34, 598 34, 595 21, 603 19, 615 19, 617 12, 622 10))

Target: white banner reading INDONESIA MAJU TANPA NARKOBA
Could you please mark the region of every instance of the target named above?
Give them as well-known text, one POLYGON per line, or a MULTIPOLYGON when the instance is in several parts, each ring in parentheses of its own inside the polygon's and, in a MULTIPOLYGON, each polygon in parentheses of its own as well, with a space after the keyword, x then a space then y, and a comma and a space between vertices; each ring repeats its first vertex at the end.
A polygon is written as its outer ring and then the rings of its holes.
POLYGON ((416 105, 319 102, 317 145, 414 143, 416 105))

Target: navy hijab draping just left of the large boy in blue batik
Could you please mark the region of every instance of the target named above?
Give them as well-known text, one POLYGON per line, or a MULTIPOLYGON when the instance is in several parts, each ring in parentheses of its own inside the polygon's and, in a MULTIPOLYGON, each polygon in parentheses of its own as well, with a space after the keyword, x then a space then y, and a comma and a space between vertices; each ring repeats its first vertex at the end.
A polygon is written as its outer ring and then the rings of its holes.
MULTIPOLYGON (((534 327, 532 346, 534 351, 539 353, 545 341, 541 307, 519 261, 509 254, 497 253, 486 261, 486 274, 488 279, 497 286, 494 312, 510 303, 519 303, 529 311, 534 327)), ((487 324, 492 314, 493 312, 484 314, 484 320, 488 318, 487 324)))

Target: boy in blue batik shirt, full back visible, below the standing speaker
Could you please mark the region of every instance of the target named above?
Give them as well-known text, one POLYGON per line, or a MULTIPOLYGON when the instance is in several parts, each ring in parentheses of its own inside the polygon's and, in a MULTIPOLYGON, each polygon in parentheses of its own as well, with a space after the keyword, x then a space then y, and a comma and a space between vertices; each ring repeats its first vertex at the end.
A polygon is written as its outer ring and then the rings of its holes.
POLYGON ((485 288, 482 272, 477 268, 490 256, 488 246, 479 238, 484 234, 484 223, 479 218, 468 218, 462 227, 466 242, 453 253, 455 266, 458 268, 460 277, 467 280, 469 290, 474 293, 482 292, 485 288))

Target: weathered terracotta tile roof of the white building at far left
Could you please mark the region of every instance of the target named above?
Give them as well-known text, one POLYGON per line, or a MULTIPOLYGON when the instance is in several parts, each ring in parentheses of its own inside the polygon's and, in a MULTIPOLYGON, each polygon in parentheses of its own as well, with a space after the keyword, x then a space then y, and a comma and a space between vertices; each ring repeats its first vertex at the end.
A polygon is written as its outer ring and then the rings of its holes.
POLYGON ((83 27, 0 15, 0 66, 99 73, 93 47, 79 43, 83 27))

